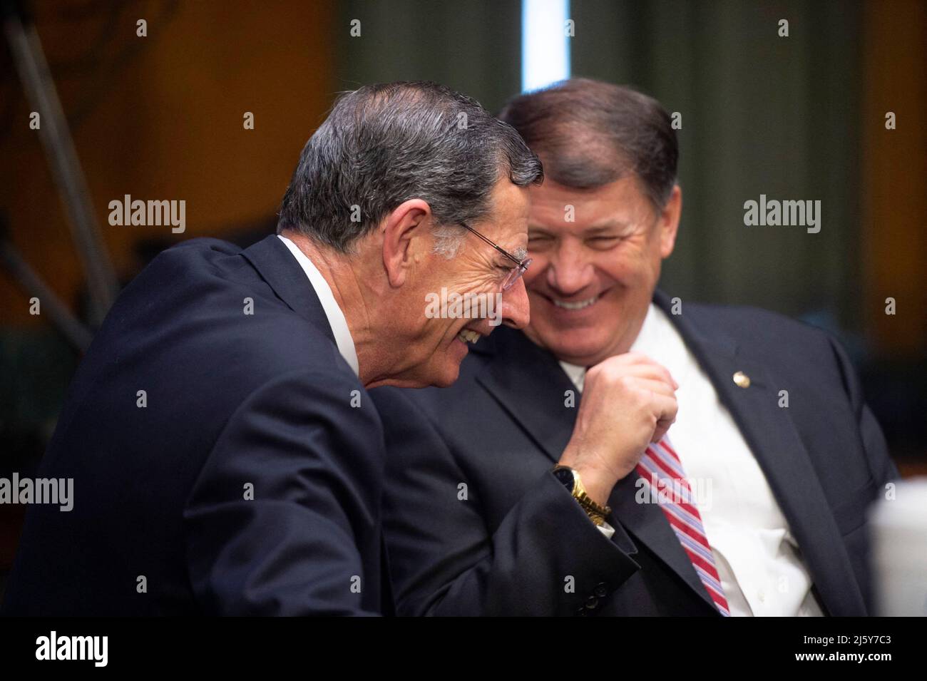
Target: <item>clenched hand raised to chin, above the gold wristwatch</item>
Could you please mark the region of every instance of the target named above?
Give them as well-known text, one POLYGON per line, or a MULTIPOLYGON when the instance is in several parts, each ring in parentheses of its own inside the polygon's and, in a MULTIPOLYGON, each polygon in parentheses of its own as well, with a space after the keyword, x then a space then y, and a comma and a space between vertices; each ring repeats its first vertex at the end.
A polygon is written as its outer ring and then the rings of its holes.
POLYGON ((579 473, 586 492, 603 506, 612 488, 676 421, 679 385, 653 359, 628 352, 586 372, 577 422, 560 463, 579 473))

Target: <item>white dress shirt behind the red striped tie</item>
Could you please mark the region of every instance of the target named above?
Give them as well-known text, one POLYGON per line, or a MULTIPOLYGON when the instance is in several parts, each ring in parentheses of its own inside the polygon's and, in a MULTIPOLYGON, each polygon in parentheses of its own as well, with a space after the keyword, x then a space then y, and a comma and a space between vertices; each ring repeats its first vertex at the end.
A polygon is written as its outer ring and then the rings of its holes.
MULTIPOLYGON (((679 412, 667 436, 693 491, 702 492, 696 505, 730 614, 821 615, 810 575, 766 476, 663 310, 650 306, 630 349, 662 364, 679 384, 679 412)), ((585 368, 560 364, 582 391, 585 368)))

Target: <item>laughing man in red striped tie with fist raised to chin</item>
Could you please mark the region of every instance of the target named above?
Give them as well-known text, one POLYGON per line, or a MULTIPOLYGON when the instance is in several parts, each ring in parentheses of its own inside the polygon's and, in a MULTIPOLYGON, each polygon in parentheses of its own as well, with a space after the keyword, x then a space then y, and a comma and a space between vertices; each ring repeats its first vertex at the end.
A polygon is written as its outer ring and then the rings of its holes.
POLYGON ((531 320, 451 388, 373 392, 397 612, 870 613, 882 433, 827 334, 656 289, 682 200, 667 112, 576 79, 501 118, 544 163, 531 320))

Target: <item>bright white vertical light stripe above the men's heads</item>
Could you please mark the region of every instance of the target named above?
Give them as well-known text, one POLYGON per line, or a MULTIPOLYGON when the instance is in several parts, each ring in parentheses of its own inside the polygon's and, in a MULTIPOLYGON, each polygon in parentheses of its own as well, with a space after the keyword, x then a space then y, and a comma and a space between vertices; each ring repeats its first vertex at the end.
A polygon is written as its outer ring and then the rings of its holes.
POLYGON ((569 0, 522 0, 522 92, 570 77, 569 0))

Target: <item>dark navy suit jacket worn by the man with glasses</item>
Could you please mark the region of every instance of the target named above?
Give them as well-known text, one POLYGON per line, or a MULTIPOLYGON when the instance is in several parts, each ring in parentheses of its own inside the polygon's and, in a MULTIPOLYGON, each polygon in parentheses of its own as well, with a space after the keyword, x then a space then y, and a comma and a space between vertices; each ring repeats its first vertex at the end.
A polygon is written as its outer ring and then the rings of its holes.
POLYGON ((38 473, 73 478, 73 511, 29 509, 4 612, 378 612, 383 465, 286 245, 185 242, 83 358, 38 473))

